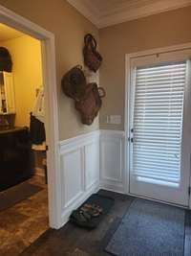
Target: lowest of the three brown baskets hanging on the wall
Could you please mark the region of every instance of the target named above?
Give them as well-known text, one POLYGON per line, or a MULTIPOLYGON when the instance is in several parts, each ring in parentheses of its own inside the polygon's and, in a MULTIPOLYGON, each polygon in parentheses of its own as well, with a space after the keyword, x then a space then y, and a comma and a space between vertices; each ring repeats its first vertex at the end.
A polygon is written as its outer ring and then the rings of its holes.
POLYGON ((105 97, 105 91, 97 87, 96 82, 89 83, 82 100, 75 102, 75 108, 81 114, 81 122, 84 125, 92 125, 102 105, 101 98, 105 97))

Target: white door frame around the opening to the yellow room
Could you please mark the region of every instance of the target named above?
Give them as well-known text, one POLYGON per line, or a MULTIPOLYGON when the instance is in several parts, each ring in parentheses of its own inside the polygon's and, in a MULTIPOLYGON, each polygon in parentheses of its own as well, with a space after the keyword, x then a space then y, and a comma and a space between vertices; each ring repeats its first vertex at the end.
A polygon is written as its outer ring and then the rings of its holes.
POLYGON ((54 35, 2 5, 0 5, 0 22, 41 41, 42 72, 45 87, 45 126, 49 147, 47 151, 49 224, 53 228, 59 228, 61 226, 59 199, 61 189, 54 35))

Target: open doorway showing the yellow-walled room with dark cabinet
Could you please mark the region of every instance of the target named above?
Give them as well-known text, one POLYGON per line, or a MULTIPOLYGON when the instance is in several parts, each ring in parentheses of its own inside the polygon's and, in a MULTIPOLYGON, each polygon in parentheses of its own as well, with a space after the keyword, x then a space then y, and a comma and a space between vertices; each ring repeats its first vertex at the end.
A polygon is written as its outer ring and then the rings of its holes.
POLYGON ((11 256, 49 228, 40 40, 1 23, 0 69, 0 254, 11 256))

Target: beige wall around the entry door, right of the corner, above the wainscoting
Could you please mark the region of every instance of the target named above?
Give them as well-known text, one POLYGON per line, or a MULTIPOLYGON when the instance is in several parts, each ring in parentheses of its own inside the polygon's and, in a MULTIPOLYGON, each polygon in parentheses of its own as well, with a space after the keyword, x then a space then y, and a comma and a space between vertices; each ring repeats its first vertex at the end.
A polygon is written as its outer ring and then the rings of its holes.
POLYGON ((191 7, 187 7, 99 31, 99 47, 103 57, 100 84, 107 92, 100 112, 100 128, 124 128, 125 54, 191 42, 190 24, 191 7), (105 124, 106 115, 111 114, 122 115, 122 124, 105 124))

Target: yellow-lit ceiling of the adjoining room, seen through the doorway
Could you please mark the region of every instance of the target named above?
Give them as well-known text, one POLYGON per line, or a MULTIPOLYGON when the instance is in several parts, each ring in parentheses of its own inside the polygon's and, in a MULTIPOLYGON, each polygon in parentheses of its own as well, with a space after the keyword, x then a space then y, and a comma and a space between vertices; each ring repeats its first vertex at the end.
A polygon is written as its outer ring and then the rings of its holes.
POLYGON ((10 40, 22 35, 24 34, 0 23, 0 41, 10 40))

